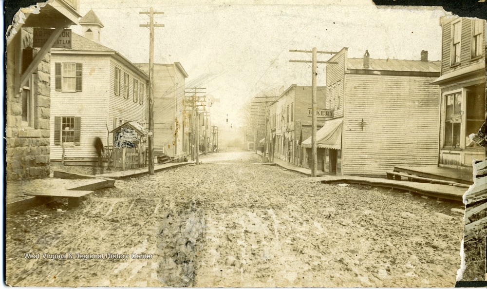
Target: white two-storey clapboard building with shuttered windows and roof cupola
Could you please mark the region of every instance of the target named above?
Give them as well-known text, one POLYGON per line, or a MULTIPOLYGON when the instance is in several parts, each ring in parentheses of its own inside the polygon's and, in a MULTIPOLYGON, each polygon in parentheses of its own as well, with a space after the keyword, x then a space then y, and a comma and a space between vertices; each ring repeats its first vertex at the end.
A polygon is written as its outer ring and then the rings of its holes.
POLYGON ((91 165, 94 140, 112 145, 114 128, 127 121, 145 126, 149 77, 130 60, 96 41, 103 27, 93 10, 80 19, 86 37, 73 33, 71 49, 51 52, 51 162, 91 165), (84 25, 91 27, 87 31, 84 25))

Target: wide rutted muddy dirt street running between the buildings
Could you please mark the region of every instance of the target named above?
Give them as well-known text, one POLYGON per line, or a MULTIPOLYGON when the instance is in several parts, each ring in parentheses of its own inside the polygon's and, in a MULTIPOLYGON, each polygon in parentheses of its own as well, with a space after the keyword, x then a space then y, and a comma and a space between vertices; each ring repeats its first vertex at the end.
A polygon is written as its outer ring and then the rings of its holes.
POLYGON ((252 152, 201 160, 117 180, 73 210, 59 201, 7 216, 7 284, 455 284, 463 221, 450 209, 463 209, 461 203, 310 183, 303 174, 258 164, 252 152))

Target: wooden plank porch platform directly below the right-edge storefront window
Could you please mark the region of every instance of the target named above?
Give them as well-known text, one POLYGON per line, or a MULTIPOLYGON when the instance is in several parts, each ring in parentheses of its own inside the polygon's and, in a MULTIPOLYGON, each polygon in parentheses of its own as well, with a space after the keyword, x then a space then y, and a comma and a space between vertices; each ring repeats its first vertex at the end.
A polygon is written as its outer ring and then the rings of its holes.
POLYGON ((394 172, 415 174, 417 176, 454 181, 461 184, 473 184, 472 168, 447 168, 437 166, 422 166, 422 167, 394 167, 394 172))

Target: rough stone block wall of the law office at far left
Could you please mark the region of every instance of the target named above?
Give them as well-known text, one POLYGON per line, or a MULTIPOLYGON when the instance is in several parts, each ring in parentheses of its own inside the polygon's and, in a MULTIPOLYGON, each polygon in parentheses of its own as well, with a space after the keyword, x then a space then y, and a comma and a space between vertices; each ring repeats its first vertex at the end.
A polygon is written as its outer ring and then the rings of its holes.
MULTIPOLYGON (((32 30, 24 29, 23 35, 12 39, 7 47, 7 99, 6 99, 6 162, 7 180, 49 177, 49 136, 51 107, 51 53, 42 59, 34 73, 33 127, 22 126, 22 97, 14 91, 16 54, 21 47, 32 47, 32 30), (14 42, 15 41, 15 42, 14 42)), ((34 48, 34 57, 39 51, 34 48)))

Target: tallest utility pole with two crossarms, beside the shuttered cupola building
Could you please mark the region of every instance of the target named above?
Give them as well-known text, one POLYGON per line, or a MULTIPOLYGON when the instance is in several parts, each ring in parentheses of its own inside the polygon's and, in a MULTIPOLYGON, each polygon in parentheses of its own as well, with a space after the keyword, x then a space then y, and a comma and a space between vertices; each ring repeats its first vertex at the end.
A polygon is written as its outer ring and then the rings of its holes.
POLYGON ((154 24, 154 14, 164 14, 164 12, 154 12, 150 7, 149 12, 139 12, 139 14, 149 14, 150 24, 140 24, 140 27, 150 27, 149 35, 149 173, 154 174, 154 27, 164 27, 164 24, 154 24))

